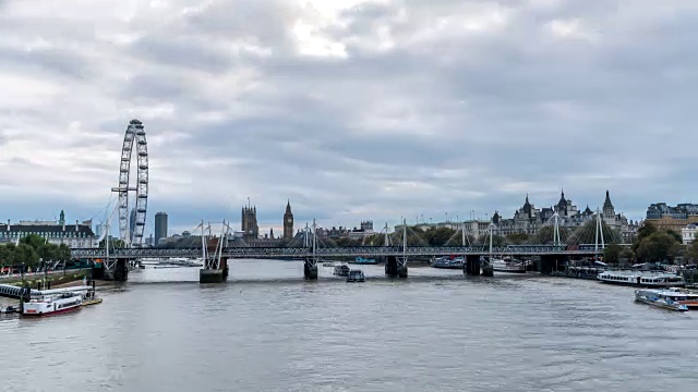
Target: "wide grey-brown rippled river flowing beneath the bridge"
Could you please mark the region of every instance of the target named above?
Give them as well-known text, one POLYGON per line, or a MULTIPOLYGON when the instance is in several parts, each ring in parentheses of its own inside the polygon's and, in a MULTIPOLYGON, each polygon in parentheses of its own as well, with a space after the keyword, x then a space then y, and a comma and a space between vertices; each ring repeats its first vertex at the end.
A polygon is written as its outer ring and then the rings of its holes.
MULTIPOLYGON (((0 316, 7 391, 695 391, 698 311, 595 281, 411 268, 345 283, 294 261, 133 271, 104 303, 0 316)), ((3 299, 4 303, 8 303, 3 299)))

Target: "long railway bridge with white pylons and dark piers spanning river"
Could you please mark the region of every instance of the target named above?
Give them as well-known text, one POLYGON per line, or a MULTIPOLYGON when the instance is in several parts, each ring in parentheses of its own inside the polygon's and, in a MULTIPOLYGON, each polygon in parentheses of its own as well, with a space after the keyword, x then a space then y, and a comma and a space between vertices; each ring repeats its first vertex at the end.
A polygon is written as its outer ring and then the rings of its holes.
MULTIPOLYGON (((200 225, 203 226, 203 222, 200 225)), ((313 229, 309 228, 299 243, 291 243, 288 246, 258 247, 245 244, 239 238, 230 238, 230 228, 225 221, 224 228, 226 229, 219 236, 212 235, 210 231, 207 235, 202 230, 202 243, 201 246, 196 247, 77 248, 71 252, 73 258, 100 261, 105 267, 105 278, 119 281, 128 279, 129 265, 137 262, 137 260, 164 258, 202 259, 204 266, 200 272, 200 281, 207 283, 225 281, 229 274, 229 260, 241 258, 303 260, 304 278, 309 280, 317 279, 317 264, 322 259, 356 257, 380 257, 384 259, 386 275, 395 278, 408 277, 408 259, 437 256, 462 256, 466 259, 464 273, 470 275, 480 274, 481 265, 488 262, 485 259, 506 256, 539 258, 540 271, 550 273, 555 264, 570 257, 598 258, 606 246, 603 235, 595 235, 595 242, 592 244, 579 244, 579 238, 575 241, 574 237, 563 242, 557 226, 552 231, 552 244, 551 242, 546 244, 527 243, 518 245, 495 243, 494 225, 491 225, 489 241, 485 238, 485 241, 478 244, 470 244, 466 240, 465 233, 460 233, 461 241, 458 245, 449 242, 443 246, 431 246, 424 241, 421 241, 421 244, 408 243, 408 228, 404 225, 402 233, 387 233, 386 231, 385 242, 381 246, 337 246, 324 240, 318 241, 315 235, 316 226, 313 224, 313 229)))

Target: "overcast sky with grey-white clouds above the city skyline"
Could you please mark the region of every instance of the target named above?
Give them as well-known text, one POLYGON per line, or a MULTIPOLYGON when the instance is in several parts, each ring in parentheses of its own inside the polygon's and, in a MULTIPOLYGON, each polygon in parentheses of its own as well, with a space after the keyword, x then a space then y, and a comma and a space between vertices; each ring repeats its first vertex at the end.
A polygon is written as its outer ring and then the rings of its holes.
POLYGON ((698 201, 697 24, 695 0, 0 0, 0 219, 103 220, 133 118, 146 232, 248 197, 263 228, 287 199, 383 225, 561 188, 642 218, 698 201))

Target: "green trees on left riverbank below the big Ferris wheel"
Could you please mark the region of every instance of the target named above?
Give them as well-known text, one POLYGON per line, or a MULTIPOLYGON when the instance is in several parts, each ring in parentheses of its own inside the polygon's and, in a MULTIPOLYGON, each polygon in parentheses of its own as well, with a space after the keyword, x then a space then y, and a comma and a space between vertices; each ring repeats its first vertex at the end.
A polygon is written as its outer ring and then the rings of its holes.
POLYGON ((19 244, 0 245, 0 265, 37 268, 46 262, 69 261, 70 247, 65 244, 49 244, 40 235, 29 234, 20 240, 19 244))

